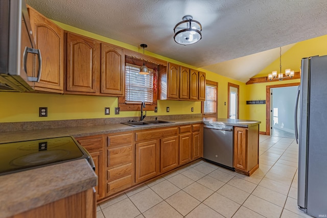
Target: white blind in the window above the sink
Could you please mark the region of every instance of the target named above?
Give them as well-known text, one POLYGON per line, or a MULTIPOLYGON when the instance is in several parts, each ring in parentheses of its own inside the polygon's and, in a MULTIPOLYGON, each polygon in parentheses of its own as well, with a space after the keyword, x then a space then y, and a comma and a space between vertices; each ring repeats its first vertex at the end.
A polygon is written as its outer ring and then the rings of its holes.
MULTIPOLYGON (((149 71, 153 72, 152 69, 149 71)), ((125 99, 127 102, 153 103, 153 74, 139 74, 139 66, 126 63, 125 99)))

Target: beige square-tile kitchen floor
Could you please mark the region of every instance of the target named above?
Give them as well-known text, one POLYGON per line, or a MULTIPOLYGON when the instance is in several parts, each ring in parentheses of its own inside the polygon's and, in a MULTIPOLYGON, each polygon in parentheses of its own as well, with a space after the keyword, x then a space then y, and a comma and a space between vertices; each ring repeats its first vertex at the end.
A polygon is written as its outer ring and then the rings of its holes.
POLYGON ((294 139, 260 135, 260 168, 250 177, 198 161, 100 203, 109 217, 310 217, 297 208, 294 139))

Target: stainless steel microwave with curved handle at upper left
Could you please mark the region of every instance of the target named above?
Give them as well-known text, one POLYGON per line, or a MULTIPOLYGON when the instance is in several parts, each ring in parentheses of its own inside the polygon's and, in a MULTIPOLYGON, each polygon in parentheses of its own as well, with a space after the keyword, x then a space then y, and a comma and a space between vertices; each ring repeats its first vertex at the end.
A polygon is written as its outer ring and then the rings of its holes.
POLYGON ((0 20, 0 91, 33 91, 28 82, 39 82, 42 61, 25 0, 2 0, 0 20))

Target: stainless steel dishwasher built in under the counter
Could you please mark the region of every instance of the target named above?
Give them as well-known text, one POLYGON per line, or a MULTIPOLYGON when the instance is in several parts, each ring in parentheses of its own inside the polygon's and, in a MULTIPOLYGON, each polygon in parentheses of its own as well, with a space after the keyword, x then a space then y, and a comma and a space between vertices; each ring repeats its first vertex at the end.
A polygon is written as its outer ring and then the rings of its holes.
POLYGON ((234 170, 232 126, 218 124, 203 126, 203 157, 234 170))

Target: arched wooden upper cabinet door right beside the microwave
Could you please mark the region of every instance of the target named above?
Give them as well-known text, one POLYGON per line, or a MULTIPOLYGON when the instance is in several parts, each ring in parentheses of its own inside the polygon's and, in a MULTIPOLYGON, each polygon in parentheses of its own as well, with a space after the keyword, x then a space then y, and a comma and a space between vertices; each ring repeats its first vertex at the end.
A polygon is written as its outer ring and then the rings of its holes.
POLYGON ((64 31, 33 8, 28 10, 35 48, 42 57, 40 82, 34 83, 34 89, 63 93, 64 31))

